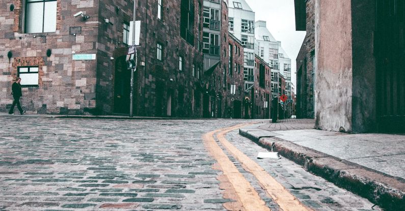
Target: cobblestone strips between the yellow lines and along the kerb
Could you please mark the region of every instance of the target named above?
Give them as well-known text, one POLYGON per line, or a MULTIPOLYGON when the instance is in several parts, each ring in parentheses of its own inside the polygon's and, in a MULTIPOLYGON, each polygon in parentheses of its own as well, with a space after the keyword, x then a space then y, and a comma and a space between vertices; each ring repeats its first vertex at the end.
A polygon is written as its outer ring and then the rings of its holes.
MULTIPOLYGON (((257 159, 259 152, 267 152, 267 150, 257 144, 252 144, 251 140, 241 137, 236 130, 228 133, 226 138, 242 153, 258 163, 266 172, 278 180, 296 198, 314 210, 373 210, 371 208, 373 204, 367 199, 338 188, 321 177, 310 174, 292 161, 285 158, 278 160, 257 159)), ((238 163, 237 160, 234 162, 238 163)), ((249 182, 272 210, 279 209, 271 198, 262 194, 264 191, 252 174, 244 171, 242 167, 239 168, 239 171, 244 172, 244 176, 248 178, 249 182)), ((373 208, 374 210, 380 210, 376 206, 373 208)))

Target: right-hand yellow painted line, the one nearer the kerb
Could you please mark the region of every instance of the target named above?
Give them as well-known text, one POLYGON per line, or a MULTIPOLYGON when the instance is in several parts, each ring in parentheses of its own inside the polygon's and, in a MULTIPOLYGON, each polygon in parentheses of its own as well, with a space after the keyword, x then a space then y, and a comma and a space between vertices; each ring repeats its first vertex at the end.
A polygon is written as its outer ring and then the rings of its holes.
MULTIPOLYGON (((241 126, 240 126, 241 127, 241 126)), ((228 152, 233 155, 244 167, 245 170, 252 173, 259 183, 264 187, 269 196, 282 208, 284 211, 299 211, 299 210, 311 210, 304 206, 298 199, 296 199, 289 191, 287 191, 280 183, 277 182, 271 175, 269 175, 259 164, 251 160, 244 153, 240 152, 234 145, 232 145, 224 135, 232 130, 240 127, 231 127, 225 130, 219 131, 217 134, 218 140, 221 144, 227 148, 228 152)), ((248 210, 260 210, 260 209, 248 209, 248 210)))

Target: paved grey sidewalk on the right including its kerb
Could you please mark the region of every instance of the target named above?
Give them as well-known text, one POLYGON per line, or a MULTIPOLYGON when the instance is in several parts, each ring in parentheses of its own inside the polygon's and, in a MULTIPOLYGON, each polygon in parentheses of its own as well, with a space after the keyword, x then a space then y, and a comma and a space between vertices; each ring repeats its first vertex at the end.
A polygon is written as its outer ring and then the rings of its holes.
POLYGON ((339 187, 387 210, 405 210, 405 136, 312 129, 313 119, 282 119, 239 130, 339 187))

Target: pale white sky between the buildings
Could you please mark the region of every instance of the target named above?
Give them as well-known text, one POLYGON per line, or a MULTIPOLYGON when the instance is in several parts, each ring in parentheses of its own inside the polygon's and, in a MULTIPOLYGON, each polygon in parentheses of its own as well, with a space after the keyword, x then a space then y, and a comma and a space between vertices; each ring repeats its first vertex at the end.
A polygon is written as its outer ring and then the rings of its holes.
MULTIPOLYGON (((255 12, 255 21, 264 20, 268 31, 291 58, 291 82, 296 87, 296 56, 305 32, 295 31, 294 0, 245 0, 255 12)), ((296 88, 295 88, 296 92, 296 88)))

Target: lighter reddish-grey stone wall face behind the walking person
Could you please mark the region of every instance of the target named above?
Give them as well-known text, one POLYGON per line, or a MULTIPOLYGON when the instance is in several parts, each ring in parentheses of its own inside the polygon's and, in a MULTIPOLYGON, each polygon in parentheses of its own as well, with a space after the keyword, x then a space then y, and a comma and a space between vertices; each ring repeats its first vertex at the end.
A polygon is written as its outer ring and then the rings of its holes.
POLYGON ((28 113, 83 114, 94 108, 94 98, 85 96, 95 93, 96 61, 73 61, 72 51, 96 53, 97 5, 93 1, 58 1, 56 32, 34 34, 24 33, 22 1, 0 5, 0 111, 12 103, 11 84, 21 65, 40 69, 38 86, 23 88, 21 104, 28 113), (90 18, 73 17, 78 11, 90 18), (50 56, 46 55, 48 49, 50 56))

